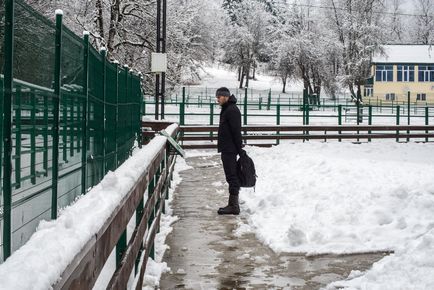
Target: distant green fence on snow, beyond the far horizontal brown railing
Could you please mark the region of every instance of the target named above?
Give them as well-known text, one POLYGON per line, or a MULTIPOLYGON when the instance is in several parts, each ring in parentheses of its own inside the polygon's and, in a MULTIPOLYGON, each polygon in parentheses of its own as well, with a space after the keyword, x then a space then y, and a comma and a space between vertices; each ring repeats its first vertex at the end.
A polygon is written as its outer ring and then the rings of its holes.
MULTIPOLYGON (((429 125, 434 121, 434 105, 425 102, 401 105, 399 103, 364 103, 359 108, 352 102, 344 104, 322 104, 315 96, 305 95, 301 103, 298 101, 282 103, 251 99, 246 89, 240 96, 237 105, 241 110, 243 125, 248 124, 330 124, 363 123, 368 125, 429 125)), ((330 101, 330 100, 329 100, 330 101)), ((219 120, 219 105, 212 100, 193 102, 187 97, 187 90, 179 102, 166 103, 165 119, 181 125, 214 125, 219 120)), ((146 100, 144 115, 154 118, 155 102, 146 100)))

